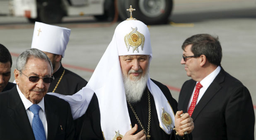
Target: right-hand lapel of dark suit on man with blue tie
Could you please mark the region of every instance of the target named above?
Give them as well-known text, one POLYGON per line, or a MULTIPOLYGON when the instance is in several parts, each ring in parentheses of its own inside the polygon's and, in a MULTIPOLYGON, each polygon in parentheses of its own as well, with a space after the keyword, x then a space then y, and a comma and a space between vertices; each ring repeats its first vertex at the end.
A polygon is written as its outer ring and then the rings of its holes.
POLYGON ((47 139, 55 139, 56 131, 58 128, 58 116, 56 114, 57 108, 56 106, 51 106, 51 100, 47 100, 49 95, 44 96, 44 107, 46 111, 46 120, 47 120, 47 139), (54 138, 52 138, 54 137, 54 138))

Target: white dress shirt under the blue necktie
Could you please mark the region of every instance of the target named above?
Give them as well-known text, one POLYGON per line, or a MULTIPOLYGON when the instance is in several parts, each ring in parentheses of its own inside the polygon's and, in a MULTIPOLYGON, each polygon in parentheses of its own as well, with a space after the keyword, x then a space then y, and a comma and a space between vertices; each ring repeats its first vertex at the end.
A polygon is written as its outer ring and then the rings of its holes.
MULTIPOLYGON (((34 114, 29 110, 29 107, 31 105, 33 105, 33 103, 31 103, 30 100, 28 100, 24 94, 19 90, 19 86, 17 85, 17 90, 19 93, 20 98, 22 99, 22 103, 25 106, 28 118, 29 118, 29 122, 30 125, 32 127, 32 120, 34 117, 34 114)), ((39 105, 41 107, 41 109, 39 110, 39 118, 41 119, 42 123, 43 123, 43 128, 45 131, 45 135, 46 135, 46 139, 47 139, 47 121, 46 121, 46 114, 45 114, 45 110, 44 110, 44 100, 42 99, 37 105, 39 105)))

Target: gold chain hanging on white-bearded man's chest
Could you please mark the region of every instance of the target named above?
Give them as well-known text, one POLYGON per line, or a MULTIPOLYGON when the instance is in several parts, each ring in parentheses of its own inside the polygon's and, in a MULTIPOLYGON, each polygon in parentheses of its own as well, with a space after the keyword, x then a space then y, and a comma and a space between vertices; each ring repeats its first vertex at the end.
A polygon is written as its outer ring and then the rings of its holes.
POLYGON ((139 122, 141 128, 144 130, 145 135, 147 135, 147 140, 150 139, 150 135, 149 135, 149 131, 150 131, 150 118, 151 118, 151 109, 150 109, 150 93, 147 89, 147 98, 148 98, 148 124, 147 124, 147 133, 144 129, 144 127, 142 126, 142 123, 140 122, 140 119, 138 118, 137 114, 135 113, 132 105, 130 104, 130 102, 127 101, 128 105, 130 106, 130 109, 133 111, 133 114, 135 115, 137 121, 139 122))

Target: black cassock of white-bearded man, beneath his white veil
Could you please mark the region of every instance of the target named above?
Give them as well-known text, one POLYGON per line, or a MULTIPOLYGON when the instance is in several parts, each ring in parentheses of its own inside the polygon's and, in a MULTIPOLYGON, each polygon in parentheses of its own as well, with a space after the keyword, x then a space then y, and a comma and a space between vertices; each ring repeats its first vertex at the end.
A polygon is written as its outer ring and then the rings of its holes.
MULTIPOLYGON (((177 101, 171 96, 171 93, 167 86, 152 80, 157 86, 162 90, 164 96, 169 101, 174 113, 176 114, 177 111, 177 101)), ((114 102, 114 101, 113 101, 114 102)), ((157 110, 155 106, 155 101, 150 93, 150 104, 151 104, 151 121, 150 121, 150 140, 175 140, 175 136, 172 133, 168 135, 163 131, 162 128, 159 126, 159 120, 157 117, 157 110)), ((132 105, 138 118, 140 119, 145 131, 147 132, 148 126, 148 98, 147 98, 147 88, 144 91, 141 100, 132 105)), ((134 127, 135 124, 138 125, 138 133, 142 130, 140 124, 138 123, 135 115, 133 114, 132 110, 130 109, 129 105, 127 104, 128 112, 130 116, 131 125, 134 127)), ((116 114, 118 115, 118 114, 116 114)), ((174 121, 174 120, 172 120, 174 121)), ((124 135, 124 134, 121 134, 124 135)), ((99 103, 96 94, 94 93, 92 100, 89 104, 89 107, 86 113, 77 119, 77 139, 80 140, 104 140, 103 134, 101 131, 100 125, 100 111, 99 111, 99 103)), ((178 139, 180 139, 178 137, 178 139)))

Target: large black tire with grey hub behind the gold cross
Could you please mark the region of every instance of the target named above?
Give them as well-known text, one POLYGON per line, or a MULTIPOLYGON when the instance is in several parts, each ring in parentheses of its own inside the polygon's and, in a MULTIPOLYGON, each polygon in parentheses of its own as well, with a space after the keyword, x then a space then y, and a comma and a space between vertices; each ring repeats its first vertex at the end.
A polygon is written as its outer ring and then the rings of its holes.
MULTIPOLYGON (((123 5, 126 6, 123 10, 123 12, 126 12, 126 14, 123 14, 120 9, 120 16, 121 14, 126 15, 126 17, 130 17, 130 12, 126 11, 126 9, 130 8, 130 5, 135 10, 133 12, 133 18, 138 19, 142 22, 144 22, 147 25, 150 24, 162 24, 167 23, 168 17, 171 14, 172 10, 172 0, 119 0, 123 2, 123 5), (128 2, 128 4, 126 4, 128 2), (158 3, 151 3, 150 2, 158 2, 158 3)), ((120 2, 120 3, 121 3, 120 2)), ((122 8, 122 7, 120 7, 122 8)), ((123 18, 121 16, 121 18, 123 18)))

